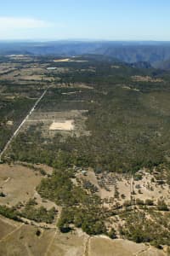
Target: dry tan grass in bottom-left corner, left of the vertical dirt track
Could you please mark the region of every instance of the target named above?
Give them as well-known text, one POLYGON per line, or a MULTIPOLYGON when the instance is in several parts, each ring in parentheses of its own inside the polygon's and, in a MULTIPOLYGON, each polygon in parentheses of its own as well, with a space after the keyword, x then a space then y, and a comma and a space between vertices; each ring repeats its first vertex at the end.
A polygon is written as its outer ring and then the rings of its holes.
POLYGON ((85 239, 87 235, 80 234, 59 234, 57 230, 39 229, 30 224, 19 224, 14 226, 13 221, 9 224, 0 220, 0 228, 6 228, 0 237, 0 255, 3 256, 82 256, 85 239), (8 225, 11 229, 8 230, 8 225), (37 236, 37 230, 41 235, 37 236))

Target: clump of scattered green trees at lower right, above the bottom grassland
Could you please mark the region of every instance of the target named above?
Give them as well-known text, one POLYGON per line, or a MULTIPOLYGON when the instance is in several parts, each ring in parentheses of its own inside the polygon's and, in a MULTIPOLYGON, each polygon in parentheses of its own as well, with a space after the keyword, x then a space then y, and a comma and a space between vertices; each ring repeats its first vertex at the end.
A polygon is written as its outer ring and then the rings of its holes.
POLYGON ((125 225, 120 227, 121 236, 135 242, 150 242, 160 247, 170 246, 170 213, 132 212, 126 214, 125 225), (150 218, 147 218, 150 216, 150 218))

